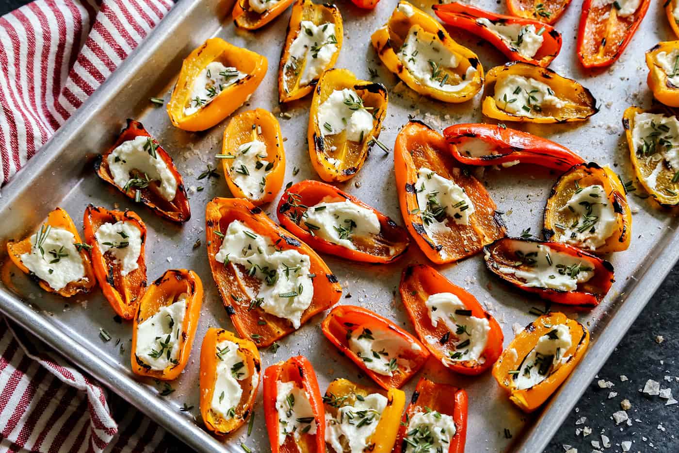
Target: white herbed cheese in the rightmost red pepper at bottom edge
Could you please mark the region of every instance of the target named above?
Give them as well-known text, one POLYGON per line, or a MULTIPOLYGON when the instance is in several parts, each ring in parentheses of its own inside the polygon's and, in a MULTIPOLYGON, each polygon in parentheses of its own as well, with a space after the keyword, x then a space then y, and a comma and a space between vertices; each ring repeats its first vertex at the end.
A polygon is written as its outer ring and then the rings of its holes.
POLYGON ((450 439, 456 432, 455 420, 448 414, 437 411, 416 412, 408 423, 405 438, 411 442, 403 443, 403 453, 423 451, 412 446, 412 443, 418 446, 427 444, 431 452, 447 452, 450 439))

